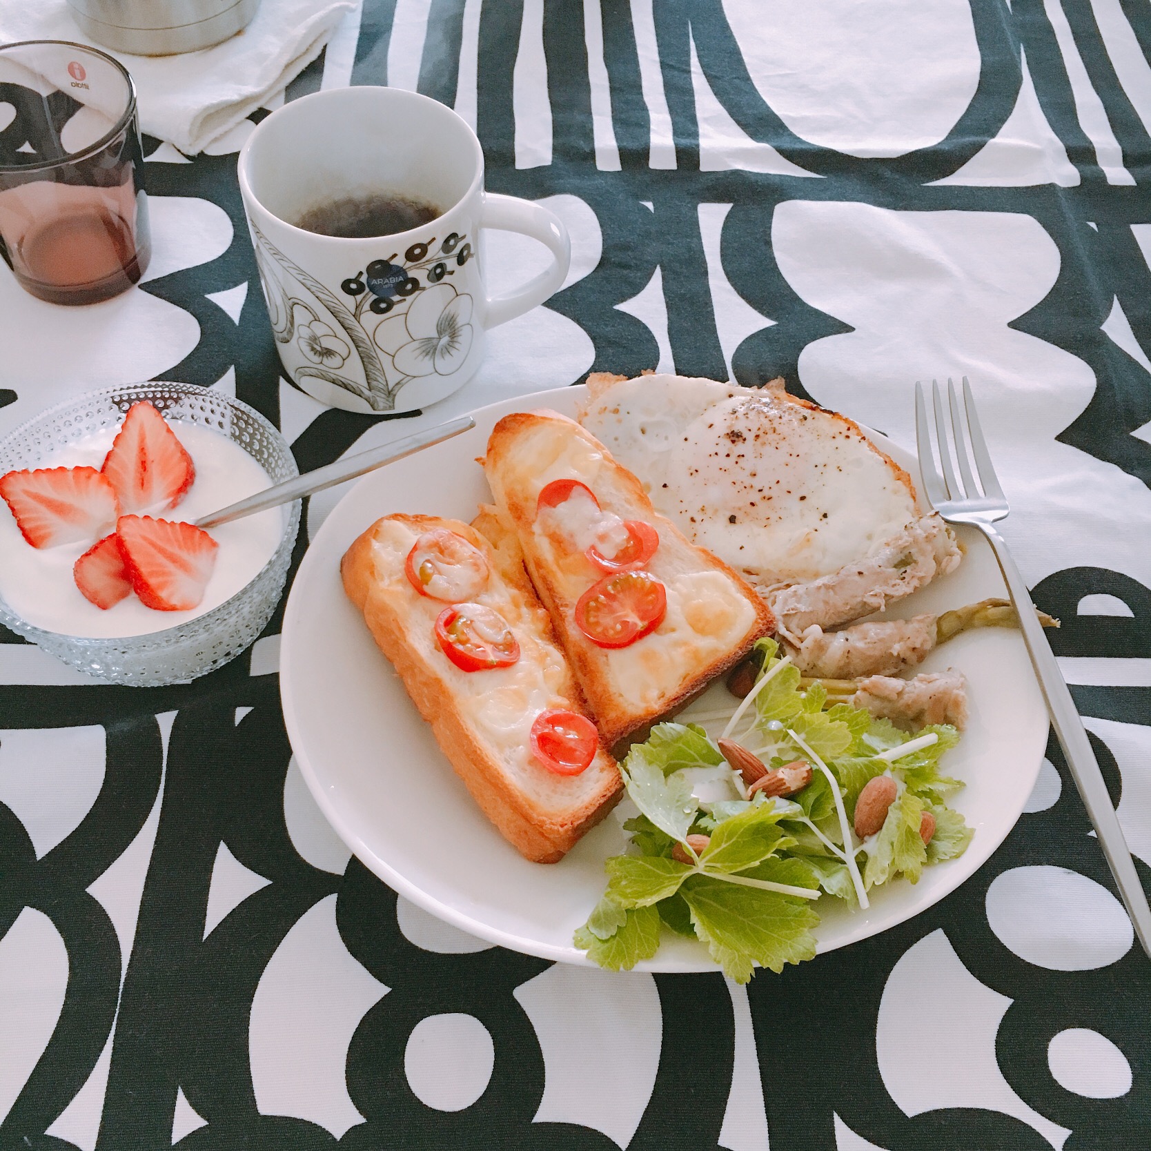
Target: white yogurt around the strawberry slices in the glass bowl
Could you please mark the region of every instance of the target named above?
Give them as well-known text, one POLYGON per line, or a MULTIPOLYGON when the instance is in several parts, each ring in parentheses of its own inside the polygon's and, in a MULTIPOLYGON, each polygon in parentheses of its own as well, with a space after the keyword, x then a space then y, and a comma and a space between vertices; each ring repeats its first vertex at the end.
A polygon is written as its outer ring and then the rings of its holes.
MULTIPOLYGON (((154 510, 158 519, 195 523, 269 487, 267 472, 227 436, 196 424, 169 420, 168 426, 196 464, 196 481, 175 508, 154 510)), ((119 428, 84 436, 45 458, 38 467, 99 467, 119 428)), ((93 639, 144 635, 175 627, 219 607, 259 573, 283 535, 287 509, 272 508, 208 534, 220 544, 204 599, 191 611, 155 611, 135 596, 102 610, 76 587, 73 565, 87 543, 33 548, 20 534, 8 505, 0 500, 0 595, 28 623, 45 631, 93 639)), ((96 542, 96 541, 93 541, 96 542)))

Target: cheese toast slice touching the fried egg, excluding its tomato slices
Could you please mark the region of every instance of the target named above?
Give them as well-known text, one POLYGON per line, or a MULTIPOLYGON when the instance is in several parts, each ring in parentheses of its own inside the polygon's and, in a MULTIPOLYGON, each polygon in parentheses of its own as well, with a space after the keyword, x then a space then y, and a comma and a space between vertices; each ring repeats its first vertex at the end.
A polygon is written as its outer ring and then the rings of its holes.
POLYGON ((660 516, 640 481, 574 420, 551 411, 505 416, 488 441, 483 468, 609 747, 685 703, 772 631, 763 600, 660 516), (577 602, 603 572, 536 513, 540 491, 569 479, 586 485, 603 511, 643 520, 660 534, 643 567, 664 585, 666 615, 628 647, 600 647, 579 628, 577 602))

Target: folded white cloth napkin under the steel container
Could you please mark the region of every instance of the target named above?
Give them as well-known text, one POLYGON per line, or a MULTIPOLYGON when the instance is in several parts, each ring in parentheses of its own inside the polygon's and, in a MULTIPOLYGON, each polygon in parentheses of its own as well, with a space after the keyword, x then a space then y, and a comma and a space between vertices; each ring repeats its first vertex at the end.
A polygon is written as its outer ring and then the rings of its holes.
POLYGON ((176 56, 134 56, 94 44, 67 0, 0 0, 0 44, 73 40, 114 55, 136 82, 140 130, 195 155, 306 68, 356 0, 262 0, 238 36, 176 56))

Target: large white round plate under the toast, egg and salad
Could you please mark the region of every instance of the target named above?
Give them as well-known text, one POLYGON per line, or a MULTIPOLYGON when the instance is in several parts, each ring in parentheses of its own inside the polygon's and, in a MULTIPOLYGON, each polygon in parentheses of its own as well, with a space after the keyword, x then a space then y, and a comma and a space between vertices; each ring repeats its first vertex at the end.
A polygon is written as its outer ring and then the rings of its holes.
MULTIPOLYGON (((441 754, 391 664, 376 649, 340 582, 340 558, 381 516, 424 512, 471 520, 490 500, 482 456, 509 412, 551 407, 574 414, 584 389, 562 388, 474 413, 475 428, 374 472, 325 520, 296 576, 284 613, 280 691, 288 735, 320 809, 344 843, 384 883, 433 915, 481 939, 566 963, 587 963, 572 932, 607 882, 603 861, 623 849, 616 813, 559 863, 523 859, 488 823, 441 754)), ((917 477, 915 459, 875 441, 917 477)), ((1004 595, 991 550, 961 531, 959 570, 908 597, 893 615, 942 611, 1004 595)), ((1047 717, 1022 639, 989 628, 932 653, 925 670, 954 666, 970 685, 971 721, 947 756, 966 780, 954 806, 975 829, 958 860, 925 868, 916 885, 892 883, 852 914, 821 899, 820 951, 884 931, 954 891, 1003 843, 1038 775, 1047 717)), ((722 687, 712 691, 723 691, 722 687)), ((618 813, 618 809, 617 809, 618 813)), ((701 944, 665 932, 648 971, 715 970, 701 944)))

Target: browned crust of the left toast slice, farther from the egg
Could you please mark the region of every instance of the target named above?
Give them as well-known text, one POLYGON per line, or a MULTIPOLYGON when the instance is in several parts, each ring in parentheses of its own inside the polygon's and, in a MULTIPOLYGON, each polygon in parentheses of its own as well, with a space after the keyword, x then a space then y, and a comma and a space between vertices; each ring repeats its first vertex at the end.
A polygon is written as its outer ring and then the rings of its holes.
MULTIPOLYGON (((619 770, 601 747, 585 772, 601 776, 599 786, 589 796, 573 802, 559 814, 543 810, 509 778, 483 732, 468 722, 459 706, 459 688, 455 680, 459 674, 467 673, 457 672, 447 658, 426 657, 411 641, 413 617, 422 622, 422 616, 405 611, 404 608, 412 603, 407 593, 411 597, 419 599, 418 593, 407 586, 399 588, 404 594, 395 594, 397 588, 389 587, 375 554, 378 533, 381 525, 389 520, 405 524, 417 533, 433 527, 457 532, 485 552, 493 569, 493 579, 501 578, 501 563, 488 541, 466 524, 433 516, 388 516, 373 524, 352 543, 340 570, 349 599, 364 613, 376 645, 399 673, 412 702, 430 725, 436 742, 481 810, 526 859, 538 863, 555 863, 615 806, 623 787, 619 770)), ((406 585, 406 579, 403 582, 406 585)), ((396 585, 398 581, 392 580, 391 584, 396 585)), ((518 590, 526 600, 531 595, 531 587, 526 579, 524 585, 525 588, 518 590)), ((525 627, 534 631, 541 641, 555 643, 547 613, 534 602, 534 596, 527 601, 526 610, 517 618, 517 632, 520 635, 525 627)), ((587 714, 574 681, 565 685, 563 694, 570 701, 571 710, 587 714)), ((546 771, 542 767, 540 770, 546 771)), ((587 791, 586 787, 581 790, 587 791)))

